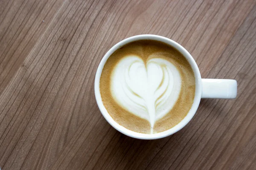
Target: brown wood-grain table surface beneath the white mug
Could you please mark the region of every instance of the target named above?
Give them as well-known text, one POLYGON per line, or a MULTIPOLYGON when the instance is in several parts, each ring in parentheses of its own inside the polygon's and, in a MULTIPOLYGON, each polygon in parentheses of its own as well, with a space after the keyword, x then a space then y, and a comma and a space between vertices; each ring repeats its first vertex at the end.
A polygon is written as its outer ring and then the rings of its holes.
POLYGON ((256 169, 256 0, 0 0, 2 170, 256 169), (236 99, 202 99, 164 139, 106 122, 94 77, 114 44, 157 34, 203 78, 236 79, 236 99))

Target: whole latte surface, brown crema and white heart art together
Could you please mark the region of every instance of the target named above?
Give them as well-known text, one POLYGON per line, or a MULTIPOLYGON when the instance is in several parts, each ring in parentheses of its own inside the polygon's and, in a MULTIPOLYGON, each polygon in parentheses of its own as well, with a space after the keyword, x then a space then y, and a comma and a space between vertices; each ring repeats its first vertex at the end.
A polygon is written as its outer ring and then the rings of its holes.
POLYGON ((177 49, 139 40, 108 58, 100 77, 100 94, 119 125, 139 133, 158 133, 177 125, 189 112, 195 76, 177 49))

